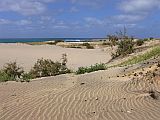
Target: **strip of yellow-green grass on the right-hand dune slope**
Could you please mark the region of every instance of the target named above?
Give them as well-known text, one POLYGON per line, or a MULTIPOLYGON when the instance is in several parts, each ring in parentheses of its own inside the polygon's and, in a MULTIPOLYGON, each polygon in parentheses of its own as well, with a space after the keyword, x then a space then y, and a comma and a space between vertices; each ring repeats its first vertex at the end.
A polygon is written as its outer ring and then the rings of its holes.
POLYGON ((154 47, 149 52, 146 52, 142 55, 135 56, 125 62, 122 62, 121 64, 119 64, 119 66, 136 64, 157 56, 160 56, 160 46, 154 47))

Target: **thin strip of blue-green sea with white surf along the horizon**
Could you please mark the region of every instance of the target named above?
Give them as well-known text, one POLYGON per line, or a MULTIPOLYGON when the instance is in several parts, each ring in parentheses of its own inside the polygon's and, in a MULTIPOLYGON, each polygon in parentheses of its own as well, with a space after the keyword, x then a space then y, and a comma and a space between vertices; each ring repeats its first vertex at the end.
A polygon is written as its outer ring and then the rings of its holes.
POLYGON ((0 43, 43 42, 43 41, 51 41, 51 40, 90 41, 93 39, 103 39, 103 38, 0 38, 0 43))

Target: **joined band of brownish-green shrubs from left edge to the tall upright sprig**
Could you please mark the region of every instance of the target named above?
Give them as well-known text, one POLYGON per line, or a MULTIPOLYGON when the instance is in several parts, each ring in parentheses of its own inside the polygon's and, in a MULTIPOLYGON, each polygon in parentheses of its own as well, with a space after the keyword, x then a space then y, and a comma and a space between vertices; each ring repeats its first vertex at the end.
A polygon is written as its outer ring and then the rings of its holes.
POLYGON ((0 82, 5 81, 21 81, 29 82, 30 79, 38 77, 55 76, 60 74, 70 73, 66 66, 67 55, 63 54, 61 62, 54 62, 50 59, 38 59, 33 68, 25 73, 22 67, 19 67, 16 62, 7 63, 0 71, 0 82))

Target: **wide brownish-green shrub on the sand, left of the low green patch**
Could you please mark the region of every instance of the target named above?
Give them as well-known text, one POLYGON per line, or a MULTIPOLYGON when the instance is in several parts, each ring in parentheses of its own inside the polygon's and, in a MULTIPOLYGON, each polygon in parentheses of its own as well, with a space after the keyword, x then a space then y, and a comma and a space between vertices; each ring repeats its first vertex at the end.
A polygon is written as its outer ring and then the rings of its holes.
POLYGON ((70 70, 66 67, 66 60, 53 62, 50 59, 38 59, 30 71, 33 78, 55 76, 69 73, 70 70))

